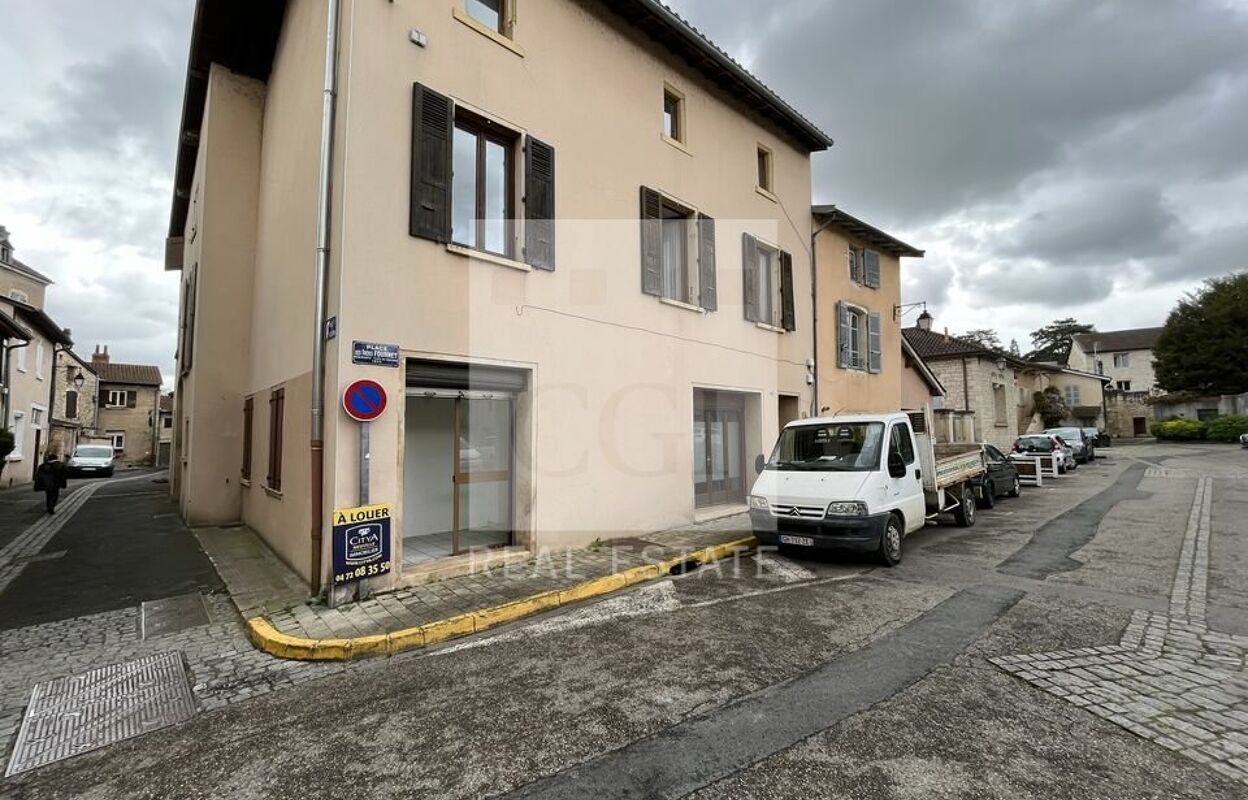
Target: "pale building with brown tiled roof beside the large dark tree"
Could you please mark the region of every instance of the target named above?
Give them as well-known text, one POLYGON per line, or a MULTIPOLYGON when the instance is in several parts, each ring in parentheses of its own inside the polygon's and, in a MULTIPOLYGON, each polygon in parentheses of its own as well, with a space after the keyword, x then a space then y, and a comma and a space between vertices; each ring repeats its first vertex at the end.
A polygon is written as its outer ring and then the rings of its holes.
POLYGON ((1163 328, 1132 328, 1071 337, 1067 366, 1109 378, 1106 388, 1106 432, 1112 438, 1149 436, 1162 391, 1153 373, 1153 347, 1163 328))

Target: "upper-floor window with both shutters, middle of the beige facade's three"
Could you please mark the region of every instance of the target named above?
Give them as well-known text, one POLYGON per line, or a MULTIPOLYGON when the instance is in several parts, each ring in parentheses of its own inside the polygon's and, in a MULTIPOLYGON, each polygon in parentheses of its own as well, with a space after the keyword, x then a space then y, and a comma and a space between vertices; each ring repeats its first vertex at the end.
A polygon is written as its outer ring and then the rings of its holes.
POLYGON ((715 311, 715 221, 641 187, 641 291, 715 311))

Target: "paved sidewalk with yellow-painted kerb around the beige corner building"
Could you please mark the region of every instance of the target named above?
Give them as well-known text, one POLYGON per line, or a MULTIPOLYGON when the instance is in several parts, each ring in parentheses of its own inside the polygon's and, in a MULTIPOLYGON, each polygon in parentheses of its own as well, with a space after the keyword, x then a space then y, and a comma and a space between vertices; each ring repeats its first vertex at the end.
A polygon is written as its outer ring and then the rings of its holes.
POLYGON ((459 614, 522 600, 543 592, 751 535, 746 514, 584 549, 543 550, 514 564, 377 594, 338 608, 307 599, 306 589, 246 529, 201 533, 200 542, 245 617, 261 610, 280 633, 301 639, 349 639, 416 628, 459 614), (267 553, 267 555, 266 555, 267 553))

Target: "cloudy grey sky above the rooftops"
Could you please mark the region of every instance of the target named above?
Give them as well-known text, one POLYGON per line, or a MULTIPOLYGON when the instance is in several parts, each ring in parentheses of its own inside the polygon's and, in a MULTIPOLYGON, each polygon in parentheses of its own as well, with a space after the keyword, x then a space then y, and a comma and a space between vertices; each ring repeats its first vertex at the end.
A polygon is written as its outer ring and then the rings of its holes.
MULTIPOLYGON (((816 202, 927 251, 905 300, 937 327, 1159 324, 1248 268, 1248 0, 671 5, 836 140, 816 202)), ((80 349, 166 377, 191 9, 0 0, 0 225, 80 349)))

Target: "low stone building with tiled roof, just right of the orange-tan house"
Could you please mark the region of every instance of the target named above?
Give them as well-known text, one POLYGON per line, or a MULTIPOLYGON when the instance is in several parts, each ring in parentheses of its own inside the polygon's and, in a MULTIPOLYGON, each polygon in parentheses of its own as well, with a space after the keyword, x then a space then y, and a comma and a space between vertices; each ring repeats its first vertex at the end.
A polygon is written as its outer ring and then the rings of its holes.
POLYGON ((945 387, 943 408, 936 413, 937 438, 1010 449, 1018 437, 1018 372, 1027 363, 977 342, 936 333, 931 323, 932 317, 925 313, 902 334, 945 387))

